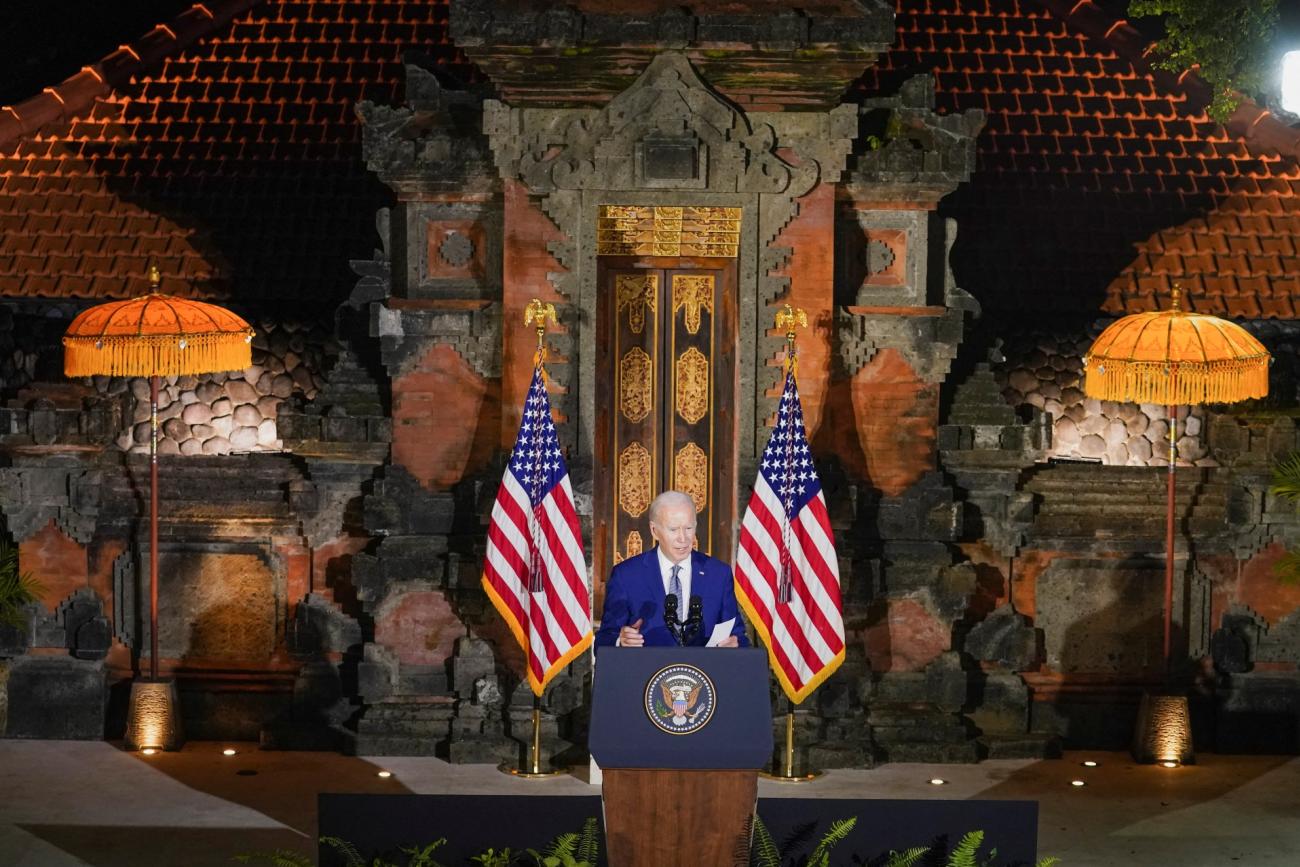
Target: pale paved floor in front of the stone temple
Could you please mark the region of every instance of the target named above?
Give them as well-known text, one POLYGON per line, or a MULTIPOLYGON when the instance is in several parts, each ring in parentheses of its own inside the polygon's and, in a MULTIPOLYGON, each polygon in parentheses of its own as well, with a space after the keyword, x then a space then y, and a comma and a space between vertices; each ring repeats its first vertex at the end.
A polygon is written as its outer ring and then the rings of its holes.
MULTIPOLYGON (((248 744, 188 744, 146 758, 110 744, 0 741, 0 866, 230 864, 238 853, 312 851, 318 792, 592 794, 585 776, 530 783, 490 766, 263 753, 248 744), (222 755, 228 746, 238 753, 222 755), (381 779, 381 768, 393 776, 381 779)), ((1135 766, 1119 753, 889 764, 798 786, 764 780, 763 796, 1036 799, 1039 849, 1063 867, 1300 864, 1294 757, 1201 755, 1176 770, 1135 766), (1084 768, 1084 759, 1100 764, 1084 768), (936 776, 948 784, 931 785, 936 776), (1071 786, 1075 779, 1087 785, 1071 786)))

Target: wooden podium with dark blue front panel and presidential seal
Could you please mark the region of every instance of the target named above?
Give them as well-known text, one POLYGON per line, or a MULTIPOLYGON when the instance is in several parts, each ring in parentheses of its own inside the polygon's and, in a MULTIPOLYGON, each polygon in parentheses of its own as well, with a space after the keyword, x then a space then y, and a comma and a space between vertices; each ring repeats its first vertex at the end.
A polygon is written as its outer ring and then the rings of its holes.
POLYGON ((589 744, 611 867, 748 863, 758 770, 772 755, 767 655, 603 647, 589 744))

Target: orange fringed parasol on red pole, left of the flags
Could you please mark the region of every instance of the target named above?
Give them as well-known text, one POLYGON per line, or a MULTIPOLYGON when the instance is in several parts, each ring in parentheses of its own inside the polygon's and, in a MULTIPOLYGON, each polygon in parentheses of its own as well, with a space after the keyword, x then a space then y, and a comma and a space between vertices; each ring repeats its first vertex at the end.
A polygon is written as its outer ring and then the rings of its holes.
POLYGON ((69 377, 150 377, 150 677, 159 676, 159 377, 242 370, 252 364, 252 328, 216 304, 152 292, 82 311, 64 333, 69 377))

